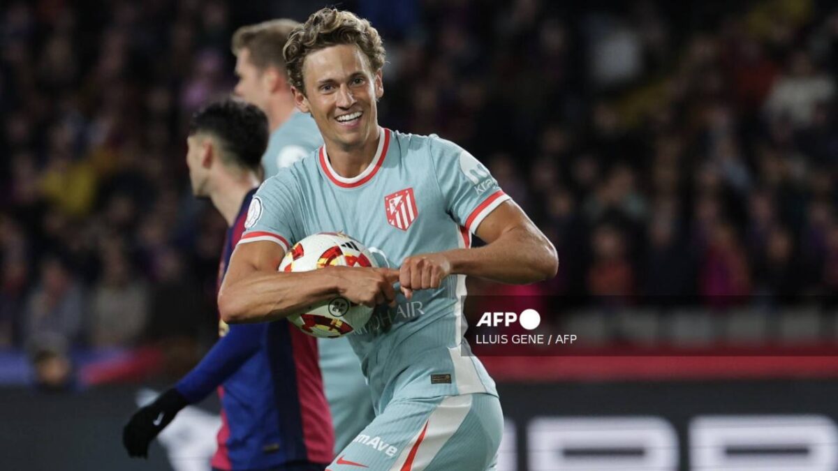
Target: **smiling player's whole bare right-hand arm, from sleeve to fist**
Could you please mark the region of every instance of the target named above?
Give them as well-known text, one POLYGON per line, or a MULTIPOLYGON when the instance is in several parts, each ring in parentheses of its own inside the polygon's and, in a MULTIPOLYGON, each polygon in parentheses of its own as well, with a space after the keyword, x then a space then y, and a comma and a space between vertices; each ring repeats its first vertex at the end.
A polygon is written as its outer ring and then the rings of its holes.
POLYGON ((406 295, 414 289, 439 287, 448 275, 525 284, 555 277, 558 272, 556 248, 512 200, 489 213, 475 234, 485 246, 407 257, 399 274, 406 295))

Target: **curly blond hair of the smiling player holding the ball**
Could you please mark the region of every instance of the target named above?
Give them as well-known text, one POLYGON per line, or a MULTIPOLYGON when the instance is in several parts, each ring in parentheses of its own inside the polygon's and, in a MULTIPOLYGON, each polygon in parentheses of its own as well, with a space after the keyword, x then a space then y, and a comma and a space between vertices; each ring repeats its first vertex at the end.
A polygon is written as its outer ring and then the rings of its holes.
POLYGON ((303 62, 312 52, 338 44, 354 44, 370 60, 373 72, 384 67, 384 43, 369 21, 354 13, 323 8, 312 13, 306 23, 292 31, 282 54, 291 85, 305 93, 303 62))

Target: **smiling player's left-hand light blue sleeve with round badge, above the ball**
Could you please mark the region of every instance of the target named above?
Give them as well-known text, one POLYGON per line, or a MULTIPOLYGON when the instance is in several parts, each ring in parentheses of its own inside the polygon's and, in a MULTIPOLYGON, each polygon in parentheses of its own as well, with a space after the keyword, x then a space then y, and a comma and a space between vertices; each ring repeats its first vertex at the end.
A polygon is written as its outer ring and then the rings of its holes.
POLYGON ((284 169, 266 179, 251 199, 245 219, 245 232, 239 244, 271 241, 288 251, 295 240, 300 192, 290 170, 284 169))

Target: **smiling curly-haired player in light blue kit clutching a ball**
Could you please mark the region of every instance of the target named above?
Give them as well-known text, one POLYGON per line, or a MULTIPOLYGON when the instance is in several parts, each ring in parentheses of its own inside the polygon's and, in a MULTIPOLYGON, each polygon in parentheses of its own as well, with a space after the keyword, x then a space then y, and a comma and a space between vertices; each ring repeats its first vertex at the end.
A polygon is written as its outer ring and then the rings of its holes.
POLYGON ((494 469, 503 417, 463 339, 465 276, 553 277, 555 248, 463 148, 378 125, 385 50, 369 22, 324 8, 284 55, 297 107, 325 144, 256 192, 219 292, 222 318, 285 318, 335 296, 378 306, 349 335, 376 417, 328 469, 494 469), (338 230, 385 268, 277 272, 296 241, 338 230), (472 235, 486 246, 468 248, 472 235))

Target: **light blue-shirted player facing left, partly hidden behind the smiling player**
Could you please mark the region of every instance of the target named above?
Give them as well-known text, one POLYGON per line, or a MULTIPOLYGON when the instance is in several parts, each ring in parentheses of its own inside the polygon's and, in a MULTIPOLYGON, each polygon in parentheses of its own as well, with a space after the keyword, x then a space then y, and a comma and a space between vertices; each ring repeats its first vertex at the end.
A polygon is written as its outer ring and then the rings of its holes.
MULTIPOLYGON (((265 111, 271 129, 262 157, 266 177, 323 145, 312 117, 294 106, 282 58, 288 34, 299 25, 291 19, 276 19, 239 28, 233 34, 235 74, 239 77, 235 94, 265 111)), ((318 339, 318 351, 337 453, 372 421, 375 412, 349 339, 318 339)))

